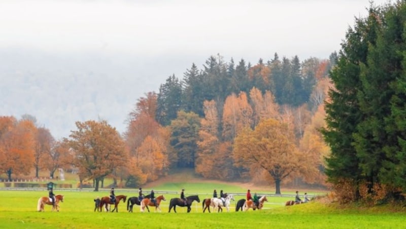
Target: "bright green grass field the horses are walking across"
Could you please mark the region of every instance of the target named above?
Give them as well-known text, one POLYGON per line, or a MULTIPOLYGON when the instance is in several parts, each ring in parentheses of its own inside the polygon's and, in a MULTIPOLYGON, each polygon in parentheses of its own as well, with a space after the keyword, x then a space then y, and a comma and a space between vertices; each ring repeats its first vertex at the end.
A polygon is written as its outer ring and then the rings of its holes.
MULTIPOLYGON (((200 200, 209 198, 213 188, 219 183, 165 183, 154 187, 159 190, 179 192, 186 187, 186 196, 199 194, 200 200)), ((243 193, 239 186, 221 185, 230 193, 243 193)), ((145 190, 147 191, 147 190, 145 190)), ((37 201, 47 196, 47 191, 0 190, 0 228, 406 228, 406 214, 390 207, 375 209, 339 208, 318 202, 284 207, 283 203, 292 198, 269 197, 263 210, 235 212, 235 202, 243 196, 235 197, 230 212, 202 213, 201 203, 193 203, 191 213, 186 208, 177 207, 178 213, 168 213, 168 203, 178 194, 164 194, 162 212, 141 213, 138 205, 133 213, 126 211, 127 203, 120 203, 119 212, 93 212, 95 197, 108 195, 101 192, 72 192, 55 189, 55 194, 64 195, 60 212, 37 212, 37 201)), ((116 195, 137 196, 136 190, 117 189, 116 195)))

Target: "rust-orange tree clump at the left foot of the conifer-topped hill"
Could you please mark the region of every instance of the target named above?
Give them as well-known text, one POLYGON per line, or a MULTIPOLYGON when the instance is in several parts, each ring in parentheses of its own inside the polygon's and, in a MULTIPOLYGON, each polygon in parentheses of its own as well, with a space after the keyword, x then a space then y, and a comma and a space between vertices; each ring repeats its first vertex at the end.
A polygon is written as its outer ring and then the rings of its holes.
POLYGON ((129 150, 129 164, 123 168, 126 186, 136 186, 147 180, 155 180, 166 173, 177 157, 170 145, 170 129, 161 127, 155 121, 157 96, 150 92, 140 98, 129 113, 127 131, 124 134, 129 150), (161 165, 145 166, 159 159, 161 165), (148 160, 148 161, 145 161, 148 160))

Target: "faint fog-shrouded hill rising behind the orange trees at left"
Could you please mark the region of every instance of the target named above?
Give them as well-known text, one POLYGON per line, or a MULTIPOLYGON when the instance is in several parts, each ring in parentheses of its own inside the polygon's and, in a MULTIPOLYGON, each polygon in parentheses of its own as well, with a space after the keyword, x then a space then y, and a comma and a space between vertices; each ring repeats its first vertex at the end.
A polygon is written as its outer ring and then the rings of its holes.
MULTIPOLYGON (((169 75, 182 77, 191 62, 164 62, 137 56, 86 53, 52 55, 35 51, 0 52, 0 114, 29 114, 59 139, 76 121, 107 120, 122 133, 137 99, 159 89, 169 75), (164 73, 166 72, 166 73, 164 73)), ((162 61, 162 58, 160 59, 162 61)))

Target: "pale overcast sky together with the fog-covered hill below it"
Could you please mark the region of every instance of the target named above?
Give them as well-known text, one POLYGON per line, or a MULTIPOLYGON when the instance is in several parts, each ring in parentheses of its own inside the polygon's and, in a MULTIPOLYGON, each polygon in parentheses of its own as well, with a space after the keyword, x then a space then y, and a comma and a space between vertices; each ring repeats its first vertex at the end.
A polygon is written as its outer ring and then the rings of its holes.
MULTIPOLYGON (((374 1, 381 5, 388 1, 374 1)), ((369 0, 0 0, 0 116, 123 133, 137 99, 212 55, 326 59, 369 0)))

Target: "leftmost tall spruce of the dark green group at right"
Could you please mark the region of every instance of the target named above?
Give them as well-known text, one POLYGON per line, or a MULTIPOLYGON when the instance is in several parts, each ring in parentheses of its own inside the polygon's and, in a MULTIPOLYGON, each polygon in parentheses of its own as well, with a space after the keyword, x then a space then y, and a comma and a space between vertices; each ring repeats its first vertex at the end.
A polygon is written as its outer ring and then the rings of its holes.
POLYGON ((349 28, 342 44, 337 65, 330 72, 335 88, 329 91, 326 103, 326 128, 322 129, 325 141, 331 148, 326 159, 326 174, 330 182, 349 182, 354 199, 359 198, 362 171, 354 147, 354 134, 364 119, 358 101, 361 89, 360 64, 366 64, 368 45, 373 41, 368 36, 368 21, 358 18, 354 28, 349 28))

